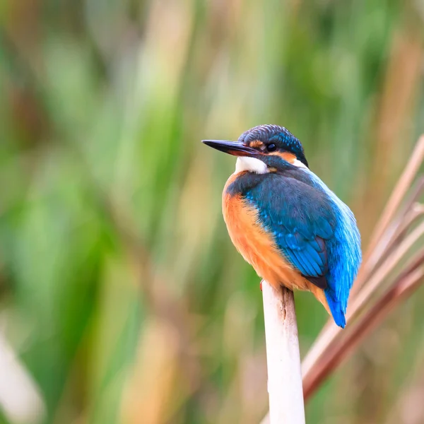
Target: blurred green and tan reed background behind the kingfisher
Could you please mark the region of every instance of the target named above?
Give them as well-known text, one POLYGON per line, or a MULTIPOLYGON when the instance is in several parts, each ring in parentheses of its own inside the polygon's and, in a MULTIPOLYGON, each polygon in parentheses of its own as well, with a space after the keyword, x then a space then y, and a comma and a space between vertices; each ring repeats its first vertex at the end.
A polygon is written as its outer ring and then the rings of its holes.
MULTIPOLYGON (((366 245, 424 132, 424 1, 2 0, 0 423, 259 423, 259 278, 200 143, 286 126, 366 245)), ((297 294, 302 354, 326 322, 297 294)), ((424 423, 424 291, 307 404, 424 423)))

